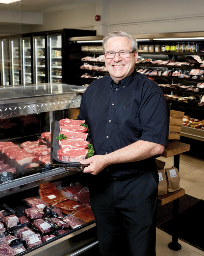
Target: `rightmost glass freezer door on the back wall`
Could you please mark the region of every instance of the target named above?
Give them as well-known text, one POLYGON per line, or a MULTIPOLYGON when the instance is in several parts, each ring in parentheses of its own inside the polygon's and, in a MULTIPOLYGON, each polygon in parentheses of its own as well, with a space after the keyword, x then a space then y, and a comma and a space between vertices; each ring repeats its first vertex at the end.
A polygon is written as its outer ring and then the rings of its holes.
POLYGON ((62 34, 49 35, 48 82, 62 82, 62 34))

